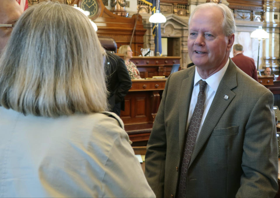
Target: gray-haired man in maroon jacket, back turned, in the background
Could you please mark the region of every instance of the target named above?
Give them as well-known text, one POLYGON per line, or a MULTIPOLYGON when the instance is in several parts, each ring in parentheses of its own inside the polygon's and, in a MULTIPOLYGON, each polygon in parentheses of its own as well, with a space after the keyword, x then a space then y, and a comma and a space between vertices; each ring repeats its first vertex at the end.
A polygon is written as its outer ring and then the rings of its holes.
POLYGON ((246 74, 254 78, 256 81, 258 81, 258 75, 257 75, 257 69, 255 66, 254 59, 244 56, 243 55, 243 46, 240 44, 236 44, 233 46, 233 58, 232 61, 236 66, 238 66, 242 71, 244 71, 246 74))

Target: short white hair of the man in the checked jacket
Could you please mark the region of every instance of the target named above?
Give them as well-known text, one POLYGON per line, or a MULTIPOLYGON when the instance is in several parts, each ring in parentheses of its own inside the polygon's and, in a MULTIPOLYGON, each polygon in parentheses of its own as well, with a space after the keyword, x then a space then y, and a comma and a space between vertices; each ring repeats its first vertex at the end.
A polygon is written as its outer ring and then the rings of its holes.
POLYGON ((223 16, 224 16, 224 20, 222 22, 222 29, 224 30, 224 34, 226 36, 229 36, 231 35, 232 33, 235 33, 236 31, 236 26, 235 26, 235 21, 234 21, 234 15, 233 15, 233 12, 232 10, 227 7, 226 5, 224 4, 215 4, 213 2, 210 2, 210 3, 205 3, 205 4, 200 4, 198 5, 194 11, 191 13, 191 15, 189 16, 189 23, 192 19, 192 16, 194 15, 194 13, 201 9, 201 8, 213 8, 213 7, 217 7, 217 8, 220 8, 222 13, 223 13, 223 16))

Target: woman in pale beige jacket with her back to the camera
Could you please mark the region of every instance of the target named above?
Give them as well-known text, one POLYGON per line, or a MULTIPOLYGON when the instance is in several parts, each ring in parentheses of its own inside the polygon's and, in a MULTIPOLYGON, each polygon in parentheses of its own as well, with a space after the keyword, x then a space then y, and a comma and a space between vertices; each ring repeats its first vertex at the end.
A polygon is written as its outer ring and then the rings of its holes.
POLYGON ((104 112, 104 60, 81 11, 47 1, 22 14, 0 58, 1 197, 155 197, 104 112))

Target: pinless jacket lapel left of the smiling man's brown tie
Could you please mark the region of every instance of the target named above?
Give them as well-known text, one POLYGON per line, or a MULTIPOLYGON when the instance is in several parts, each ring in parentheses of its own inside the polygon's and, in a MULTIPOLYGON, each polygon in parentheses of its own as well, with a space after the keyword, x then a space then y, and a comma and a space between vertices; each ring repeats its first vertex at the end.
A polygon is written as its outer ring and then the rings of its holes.
POLYGON ((189 114, 189 103, 192 97, 192 90, 194 87, 194 72, 195 66, 190 68, 188 76, 182 81, 180 98, 179 98, 179 148, 180 156, 182 156, 182 151, 185 142, 186 124, 189 114))

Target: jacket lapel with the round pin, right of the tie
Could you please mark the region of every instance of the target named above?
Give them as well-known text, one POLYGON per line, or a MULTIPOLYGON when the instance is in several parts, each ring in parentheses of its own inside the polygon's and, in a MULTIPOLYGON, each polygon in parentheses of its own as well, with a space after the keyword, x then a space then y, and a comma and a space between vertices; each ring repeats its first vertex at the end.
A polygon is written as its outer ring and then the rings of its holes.
POLYGON ((231 90, 237 86, 236 72, 236 66, 230 59, 227 71, 225 72, 219 84, 215 97, 201 127, 201 131, 196 141, 189 166, 192 164, 192 162, 208 140, 209 136, 213 132, 213 129, 218 124, 222 114, 225 112, 228 105, 235 97, 235 93, 231 90), (228 99, 225 99, 225 95, 228 96, 228 99))

